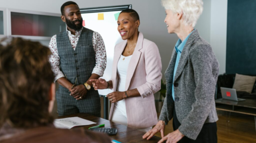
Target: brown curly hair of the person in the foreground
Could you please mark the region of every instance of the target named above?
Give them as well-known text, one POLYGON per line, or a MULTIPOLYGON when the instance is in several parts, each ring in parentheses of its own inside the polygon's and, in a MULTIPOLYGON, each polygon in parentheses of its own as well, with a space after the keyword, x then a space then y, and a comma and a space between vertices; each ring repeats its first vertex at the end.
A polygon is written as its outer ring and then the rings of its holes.
POLYGON ((0 45, 0 126, 32 128, 52 123, 50 55, 49 48, 39 42, 21 38, 0 45))

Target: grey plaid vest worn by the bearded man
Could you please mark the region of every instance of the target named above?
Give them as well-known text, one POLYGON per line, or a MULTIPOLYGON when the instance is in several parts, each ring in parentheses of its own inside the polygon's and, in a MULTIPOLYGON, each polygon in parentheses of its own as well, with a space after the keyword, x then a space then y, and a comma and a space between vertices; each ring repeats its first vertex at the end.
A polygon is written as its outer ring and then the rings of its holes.
POLYGON ((93 31, 83 28, 76 50, 73 50, 67 31, 56 35, 60 69, 72 84, 84 84, 95 67, 95 51, 93 49, 93 31))

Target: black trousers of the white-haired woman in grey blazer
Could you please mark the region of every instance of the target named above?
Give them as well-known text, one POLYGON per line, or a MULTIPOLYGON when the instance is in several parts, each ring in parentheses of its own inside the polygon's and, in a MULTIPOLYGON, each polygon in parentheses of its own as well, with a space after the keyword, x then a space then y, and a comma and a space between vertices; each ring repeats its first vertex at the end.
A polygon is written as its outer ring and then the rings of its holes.
MULTIPOLYGON (((179 128, 180 122, 177 119, 175 107, 173 109, 173 130, 179 128)), ((178 143, 217 143, 217 124, 205 123, 196 140, 184 136, 178 143)))

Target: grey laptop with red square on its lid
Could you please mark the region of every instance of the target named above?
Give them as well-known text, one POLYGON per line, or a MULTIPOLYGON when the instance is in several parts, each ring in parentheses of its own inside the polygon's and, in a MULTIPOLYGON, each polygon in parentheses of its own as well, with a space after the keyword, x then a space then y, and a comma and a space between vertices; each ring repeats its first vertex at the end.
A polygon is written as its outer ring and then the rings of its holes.
POLYGON ((236 89, 221 87, 221 95, 223 99, 232 101, 245 101, 245 99, 237 98, 236 89))

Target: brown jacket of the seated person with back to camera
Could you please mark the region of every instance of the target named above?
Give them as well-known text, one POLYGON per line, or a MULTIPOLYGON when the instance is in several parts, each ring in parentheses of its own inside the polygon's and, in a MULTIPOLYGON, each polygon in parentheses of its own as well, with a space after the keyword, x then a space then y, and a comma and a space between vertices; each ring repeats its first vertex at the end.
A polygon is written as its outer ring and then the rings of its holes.
POLYGON ((8 137, 7 139, 0 140, 0 143, 74 143, 74 142, 75 143, 111 143, 111 140, 107 135, 91 132, 91 131, 85 131, 82 128, 69 130, 69 129, 56 129, 54 127, 49 127, 49 126, 28 129, 24 132, 11 135, 11 137, 8 137))

